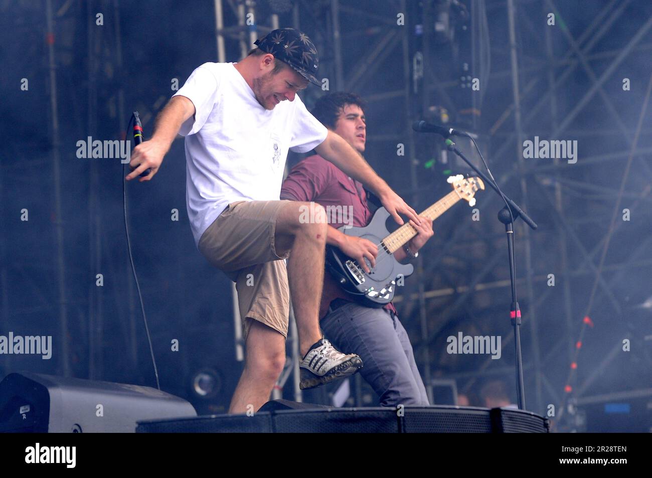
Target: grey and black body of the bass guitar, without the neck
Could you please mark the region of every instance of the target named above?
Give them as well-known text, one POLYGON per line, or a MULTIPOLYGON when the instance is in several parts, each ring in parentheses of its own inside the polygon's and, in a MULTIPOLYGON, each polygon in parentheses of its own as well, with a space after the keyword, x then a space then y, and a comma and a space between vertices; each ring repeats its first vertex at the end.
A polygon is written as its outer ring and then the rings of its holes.
MULTIPOLYGON (((389 217, 387 209, 380 207, 371 222, 364 228, 342 226, 340 232, 368 239, 379 245, 383 237, 389 235, 385 221, 389 217)), ((367 265, 369 262, 365 259, 367 265)), ((389 254, 383 246, 378 247, 376 267, 367 274, 359 264, 334 246, 326 246, 326 269, 339 282, 340 286, 355 295, 360 303, 371 307, 382 307, 394 298, 396 280, 414 272, 411 264, 402 264, 389 254)))

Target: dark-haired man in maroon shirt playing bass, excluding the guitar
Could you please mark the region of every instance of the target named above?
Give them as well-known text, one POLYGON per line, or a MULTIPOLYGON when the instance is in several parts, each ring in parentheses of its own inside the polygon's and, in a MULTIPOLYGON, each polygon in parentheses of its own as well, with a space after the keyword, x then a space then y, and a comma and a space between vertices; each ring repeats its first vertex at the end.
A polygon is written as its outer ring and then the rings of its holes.
MULTIPOLYGON (((351 93, 329 93, 319 98, 312 115, 363 156, 366 121, 364 102, 360 97, 351 93)), ((319 155, 305 158, 291 170, 282 185, 280 197, 282 200, 316 202, 327 211, 353 211, 351 226, 364 227, 372 218, 361 183, 319 155)), ((374 267, 378 247, 372 241, 338 231, 336 228, 344 225, 342 217, 326 218, 330 222, 326 242, 357 260, 368 273, 370 269, 364 259, 374 267)), ((434 234, 432 220, 419 218, 421 225, 410 220, 417 235, 404 248, 394 252, 396 260, 416 258, 419 249, 434 234)), ((338 350, 360 355, 364 363, 360 373, 378 394, 381 406, 428 406, 428 396, 408 334, 392 303, 383 308, 357 303, 326 274, 319 318, 321 329, 338 350)))

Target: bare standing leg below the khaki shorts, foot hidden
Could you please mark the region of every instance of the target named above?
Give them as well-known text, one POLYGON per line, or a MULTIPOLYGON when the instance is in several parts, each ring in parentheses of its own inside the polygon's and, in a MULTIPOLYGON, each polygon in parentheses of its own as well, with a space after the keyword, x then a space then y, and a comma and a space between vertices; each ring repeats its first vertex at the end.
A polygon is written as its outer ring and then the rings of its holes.
POLYGON ((263 406, 269 400, 286 360, 285 337, 257 320, 251 321, 245 344, 244 370, 231 398, 229 413, 257 411, 263 406))

